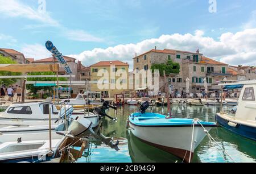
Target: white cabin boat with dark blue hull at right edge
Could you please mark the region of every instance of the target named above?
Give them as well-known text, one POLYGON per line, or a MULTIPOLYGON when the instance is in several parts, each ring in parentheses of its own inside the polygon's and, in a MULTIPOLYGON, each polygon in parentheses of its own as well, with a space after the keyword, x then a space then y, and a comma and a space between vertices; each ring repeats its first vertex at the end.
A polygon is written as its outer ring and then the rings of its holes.
POLYGON ((228 129, 234 134, 245 138, 256 140, 256 81, 243 81, 232 84, 219 84, 220 86, 229 86, 229 89, 242 85, 241 96, 238 100, 237 109, 231 113, 216 114, 218 125, 228 129), (231 86, 231 87, 230 87, 231 86))

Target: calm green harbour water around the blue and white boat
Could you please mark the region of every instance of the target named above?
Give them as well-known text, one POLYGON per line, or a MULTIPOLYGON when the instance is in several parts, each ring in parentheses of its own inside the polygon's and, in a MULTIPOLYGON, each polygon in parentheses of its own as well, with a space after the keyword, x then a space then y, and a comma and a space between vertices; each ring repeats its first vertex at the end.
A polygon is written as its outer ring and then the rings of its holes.
MULTIPOLYGON (((225 107, 230 110, 232 107, 225 107)), ((126 119, 134 112, 137 106, 120 107, 117 111, 109 110, 108 114, 117 117, 118 122, 105 119, 102 134, 120 140, 120 151, 111 150, 109 147, 92 144, 92 148, 86 152, 85 157, 79 160, 80 163, 132 163, 132 162, 176 162, 175 156, 138 140, 126 130, 126 119)), ((155 112, 167 115, 167 108, 150 107, 148 112, 155 112)), ((172 113, 176 118, 200 118, 203 121, 214 122, 215 114, 220 111, 219 106, 173 106, 172 113)), ((236 162, 256 162, 256 142, 234 135, 223 128, 214 128, 210 131, 213 138, 225 149, 236 162)), ((210 143, 205 137, 197 148, 193 162, 232 162, 218 146, 210 143)))

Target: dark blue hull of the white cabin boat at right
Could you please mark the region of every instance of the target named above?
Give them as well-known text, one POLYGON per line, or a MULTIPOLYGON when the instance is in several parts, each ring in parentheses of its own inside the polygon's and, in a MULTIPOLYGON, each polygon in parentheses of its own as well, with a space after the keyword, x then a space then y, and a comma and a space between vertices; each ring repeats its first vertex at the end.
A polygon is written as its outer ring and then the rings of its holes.
POLYGON ((245 125, 237 125, 237 127, 229 126, 229 121, 221 118, 218 114, 216 114, 216 121, 219 125, 228 129, 229 131, 234 132, 235 134, 241 135, 245 138, 256 140, 256 128, 245 126, 245 125))

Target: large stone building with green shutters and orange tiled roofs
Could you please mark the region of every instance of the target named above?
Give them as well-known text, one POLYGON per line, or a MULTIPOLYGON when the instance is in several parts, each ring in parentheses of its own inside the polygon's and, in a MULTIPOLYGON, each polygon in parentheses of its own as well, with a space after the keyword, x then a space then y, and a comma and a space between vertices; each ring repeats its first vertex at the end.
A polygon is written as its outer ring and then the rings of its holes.
MULTIPOLYGON (((188 52, 174 49, 152 49, 142 55, 136 56, 134 60, 134 71, 150 69, 153 64, 166 64, 168 60, 180 64, 180 73, 168 76, 168 84, 174 90, 184 91, 186 88, 186 79, 190 81, 190 91, 193 93, 204 90, 204 78, 207 78, 208 90, 219 89, 217 81, 225 77, 232 76, 228 72, 228 65, 204 57, 200 51, 188 52)), ((136 82, 135 82, 136 83, 136 82)), ((160 77, 159 90, 163 90, 164 79, 160 77)), ((142 86, 140 86, 142 87, 142 86)), ((137 89, 135 89, 137 90, 137 89)))

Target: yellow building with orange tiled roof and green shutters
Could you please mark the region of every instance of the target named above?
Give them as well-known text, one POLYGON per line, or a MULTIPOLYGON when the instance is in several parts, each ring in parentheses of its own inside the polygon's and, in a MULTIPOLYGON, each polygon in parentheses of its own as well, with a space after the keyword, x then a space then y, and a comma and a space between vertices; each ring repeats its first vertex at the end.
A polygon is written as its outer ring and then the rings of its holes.
POLYGON ((100 61, 90 66, 90 90, 102 92, 104 97, 129 92, 129 64, 122 61, 100 61), (102 89, 104 88, 104 89, 102 89))

